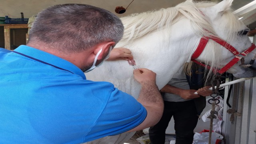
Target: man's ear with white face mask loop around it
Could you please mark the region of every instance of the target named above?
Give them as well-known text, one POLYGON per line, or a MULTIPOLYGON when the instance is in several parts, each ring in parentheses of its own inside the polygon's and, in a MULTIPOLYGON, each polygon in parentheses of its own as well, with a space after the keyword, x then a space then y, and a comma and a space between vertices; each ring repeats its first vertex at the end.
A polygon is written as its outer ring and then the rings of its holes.
POLYGON ((106 56, 109 52, 110 46, 114 46, 116 43, 115 42, 101 42, 94 46, 94 51, 93 53, 96 55, 101 49, 102 52, 99 54, 97 60, 101 60, 106 56))

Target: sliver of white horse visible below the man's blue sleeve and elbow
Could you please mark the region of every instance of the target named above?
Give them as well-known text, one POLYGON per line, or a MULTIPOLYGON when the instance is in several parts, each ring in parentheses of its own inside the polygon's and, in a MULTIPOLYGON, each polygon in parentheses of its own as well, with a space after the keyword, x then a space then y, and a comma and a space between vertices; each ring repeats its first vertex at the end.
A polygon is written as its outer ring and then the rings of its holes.
POLYGON ((103 138, 99 138, 97 140, 86 142, 84 144, 123 144, 124 142, 129 140, 134 134, 135 132, 124 132, 115 136, 106 136, 103 138))

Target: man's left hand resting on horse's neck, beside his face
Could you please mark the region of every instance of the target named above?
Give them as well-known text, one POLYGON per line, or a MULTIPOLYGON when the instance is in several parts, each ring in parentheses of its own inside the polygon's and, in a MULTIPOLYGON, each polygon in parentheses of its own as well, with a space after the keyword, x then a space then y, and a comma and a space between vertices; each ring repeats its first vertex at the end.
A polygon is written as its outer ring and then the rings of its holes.
POLYGON ((128 48, 113 48, 111 50, 109 58, 106 60, 132 60, 132 52, 128 48))

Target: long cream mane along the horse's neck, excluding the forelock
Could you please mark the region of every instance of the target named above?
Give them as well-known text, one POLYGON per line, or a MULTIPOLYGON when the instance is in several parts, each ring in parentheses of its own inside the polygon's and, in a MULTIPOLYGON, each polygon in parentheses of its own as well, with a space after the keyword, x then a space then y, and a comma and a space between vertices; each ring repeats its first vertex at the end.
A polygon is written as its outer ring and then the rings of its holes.
POLYGON ((198 8, 213 6, 212 2, 182 2, 175 7, 161 8, 137 14, 131 14, 121 18, 124 24, 124 36, 122 40, 133 40, 144 36, 155 30, 170 29, 170 27, 178 22, 181 18, 188 18, 193 24, 193 28, 199 35, 208 36, 214 32, 210 24, 207 22, 203 14, 198 8), (199 32, 200 33, 199 33, 199 32))

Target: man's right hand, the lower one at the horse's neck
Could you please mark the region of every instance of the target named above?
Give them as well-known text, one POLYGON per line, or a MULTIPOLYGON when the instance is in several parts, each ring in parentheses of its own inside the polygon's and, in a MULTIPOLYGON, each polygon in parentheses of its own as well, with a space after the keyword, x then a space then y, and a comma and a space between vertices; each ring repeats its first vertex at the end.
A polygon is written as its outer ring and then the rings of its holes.
POLYGON ((133 74, 140 84, 156 83, 156 73, 146 68, 136 68, 133 74))

